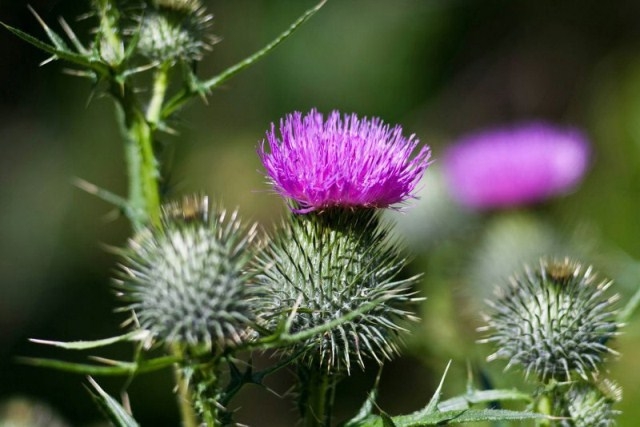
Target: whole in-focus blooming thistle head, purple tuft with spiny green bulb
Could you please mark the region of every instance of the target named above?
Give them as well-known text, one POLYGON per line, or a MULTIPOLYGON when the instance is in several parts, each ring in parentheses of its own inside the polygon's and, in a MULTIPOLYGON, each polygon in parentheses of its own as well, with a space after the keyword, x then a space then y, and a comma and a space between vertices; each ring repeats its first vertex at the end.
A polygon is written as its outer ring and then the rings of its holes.
MULTIPOLYGON (((314 329, 349 317, 288 349, 301 352, 311 371, 301 378, 348 373, 352 359, 361 367, 365 358, 382 364, 398 352, 403 320, 416 320, 408 304, 417 278, 397 278, 406 261, 375 208, 412 194, 429 148, 412 157, 419 141, 405 138, 400 126, 337 111, 325 120, 316 110, 288 115, 279 133, 272 124, 266 141, 269 151, 265 141, 258 151, 268 179, 293 212, 262 259, 276 266, 259 278, 268 327, 314 329)), ((326 395, 301 396, 317 399, 301 405, 311 408, 303 412, 307 425, 330 422, 326 395)))

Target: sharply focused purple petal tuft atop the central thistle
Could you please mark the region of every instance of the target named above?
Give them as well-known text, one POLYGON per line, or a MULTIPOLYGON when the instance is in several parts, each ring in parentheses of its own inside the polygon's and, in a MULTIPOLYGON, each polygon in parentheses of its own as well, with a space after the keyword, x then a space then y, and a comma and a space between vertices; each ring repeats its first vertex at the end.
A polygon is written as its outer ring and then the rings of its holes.
POLYGON ((333 111, 326 121, 313 109, 295 112, 267 132, 258 154, 274 189, 296 213, 329 207, 384 208, 415 197, 413 191, 429 165, 419 140, 402 135, 378 118, 342 118, 333 111))

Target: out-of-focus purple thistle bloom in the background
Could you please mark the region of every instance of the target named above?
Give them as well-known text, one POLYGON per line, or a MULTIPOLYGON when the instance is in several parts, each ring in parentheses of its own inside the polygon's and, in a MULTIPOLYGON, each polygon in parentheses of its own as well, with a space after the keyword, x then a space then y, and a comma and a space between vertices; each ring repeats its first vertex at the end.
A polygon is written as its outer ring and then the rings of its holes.
POLYGON ((589 144, 575 128, 528 122, 463 136, 444 154, 453 196, 476 209, 565 193, 582 179, 589 144))

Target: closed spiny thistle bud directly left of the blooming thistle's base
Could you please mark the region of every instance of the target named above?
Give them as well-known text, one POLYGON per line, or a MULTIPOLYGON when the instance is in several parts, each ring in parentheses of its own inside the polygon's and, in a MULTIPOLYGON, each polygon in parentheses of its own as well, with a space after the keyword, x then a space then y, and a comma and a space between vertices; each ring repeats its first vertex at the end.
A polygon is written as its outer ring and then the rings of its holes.
POLYGON ((129 241, 117 287, 140 326, 167 343, 240 343, 252 315, 252 276, 245 272, 255 227, 234 212, 209 214, 207 198, 164 206, 161 229, 129 241))

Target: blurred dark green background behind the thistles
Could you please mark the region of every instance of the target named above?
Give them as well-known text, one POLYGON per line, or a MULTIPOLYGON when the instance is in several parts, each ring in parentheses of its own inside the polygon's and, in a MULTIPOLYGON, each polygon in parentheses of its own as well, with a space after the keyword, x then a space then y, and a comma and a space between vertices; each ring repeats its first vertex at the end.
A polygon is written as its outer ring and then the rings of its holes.
MULTIPOLYGON (((201 64, 209 76, 261 48, 314 2, 205 2, 221 38, 201 64)), ((32 0, 54 28, 88 2, 32 0)), ((26 3, 3 0, 0 20, 44 37, 26 3)), ((256 145, 269 124, 312 107, 380 116, 433 148, 422 199, 398 230, 424 273, 423 322, 406 355, 388 364, 380 405, 391 414, 418 409, 449 359, 447 396, 462 393, 467 370, 496 386, 522 386, 496 363, 484 371, 479 338, 482 299, 523 261, 571 255, 616 280, 621 305, 640 284, 640 2, 528 0, 329 0, 293 38, 216 90, 209 104, 190 104, 176 124, 167 196, 204 191, 244 218, 269 228, 285 213, 268 191, 256 145), (443 148, 464 132, 520 119, 573 124, 592 140, 590 171, 572 194, 530 209, 474 215, 448 200, 438 170, 443 148), (483 367, 480 370, 480 367, 483 367)), ((90 21, 74 23, 82 30, 90 21)), ((88 81, 39 68, 46 55, 0 32, 0 401, 18 397, 55 408, 70 425, 100 415, 80 376, 16 363, 17 356, 86 360, 28 338, 97 339, 115 335, 110 274, 126 222, 110 206, 72 185, 79 177, 124 194, 122 146, 108 98, 89 97, 88 81)), ((624 389, 621 426, 640 417, 640 319, 614 344, 609 376, 624 389)), ((129 348, 100 355, 127 358, 129 348)), ((265 356, 268 357, 268 356, 265 356)), ((261 363, 259 360, 258 363, 261 363)), ((340 417, 366 396, 375 367, 356 372, 338 395, 340 417)), ((122 379, 99 379, 118 395, 122 379)), ((171 374, 136 378, 128 388, 142 425, 177 425, 171 374)), ((270 384, 284 393, 290 378, 270 384)), ((249 389, 238 419, 289 426, 295 408, 249 389)), ((2 405, 0 403, 0 405, 2 405)), ((15 405, 12 407, 16 407, 15 405)), ((0 411, 6 411, 4 409, 0 411)), ((50 423, 49 425, 53 425, 50 423)))

